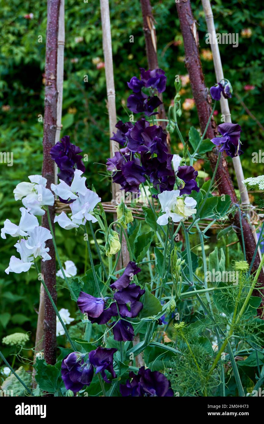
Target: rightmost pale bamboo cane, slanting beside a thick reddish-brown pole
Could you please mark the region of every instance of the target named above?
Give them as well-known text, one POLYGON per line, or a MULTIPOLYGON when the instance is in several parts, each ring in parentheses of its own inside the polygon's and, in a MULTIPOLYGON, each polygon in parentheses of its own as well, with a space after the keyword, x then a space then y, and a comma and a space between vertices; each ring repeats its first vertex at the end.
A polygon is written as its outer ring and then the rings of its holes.
MULTIPOLYGON (((211 42, 211 50, 213 53, 213 61, 214 61, 214 71, 216 75, 217 82, 221 81, 224 78, 223 68, 222 68, 222 61, 219 51, 219 46, 216 40, 216 31, 214 26, 214 15, 211 8, 210 0, 202 0, 203 4, 203 11, 206 18, 206 24, 207 24, 207 31, 212 36, 212 42, 211 42), (214 40, 213 40, 214 37, 214 40)), ((220 107, 221 107, 221 113, 225 115, 225 122, 232 122, 231 120, 231 113, 229 110, 229 104, 228 99, 225 99, 223 96, 220 98, 220 107)), ((236 156, 232 158, 233 161, 233 167, 236 173, 236 180, 239 187, 240 192, 240 198, 242 205, 249 205, 249 197, 248 192, 242 181, 244 178, 244 173, 241 165, 241 160, 239 156, 236 156)), ((254 229, 254 228, 253 228, 254 229)), ((253 232, 254 239, 257 243, 258 237, 256 232, 253 232)), ((258 254, 261 257, 260 249, 258 249, 258 254)))

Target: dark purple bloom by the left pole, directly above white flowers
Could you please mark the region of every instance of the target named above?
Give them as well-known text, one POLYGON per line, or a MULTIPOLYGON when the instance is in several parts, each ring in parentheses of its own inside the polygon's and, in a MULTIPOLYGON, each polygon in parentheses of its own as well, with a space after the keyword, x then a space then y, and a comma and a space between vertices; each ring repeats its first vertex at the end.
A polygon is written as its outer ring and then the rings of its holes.
POLYGON ((82 150, 72 144, 70 137, 66 135, 62 137, 60 142, 57 142, 50 150, 50 156, 58 165, 60 172, 58 177, 69 184, 74 176, 75 169, 85 171, 85 166, 82 161, 81 153, 82 150))

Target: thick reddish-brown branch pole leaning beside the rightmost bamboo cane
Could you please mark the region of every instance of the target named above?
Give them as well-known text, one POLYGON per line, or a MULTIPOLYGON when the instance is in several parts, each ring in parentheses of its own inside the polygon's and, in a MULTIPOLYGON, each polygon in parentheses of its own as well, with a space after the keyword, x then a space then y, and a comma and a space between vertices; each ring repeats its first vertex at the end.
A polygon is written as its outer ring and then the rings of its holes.
MULTIPOLYGON (((183 35, 183 43, 185 49, 185 62, 186 67, 189 73, 190 83, 192 87, 192 93, 195 99, 195 104, 197 107, 197 113, 199 117, 201 131, 203 132, 206 128, 206 123, 211 114, 211 98, 208 95, 208 90, 206 88, 203 76, 202 65, 200 62, 199 55, 199 41, 198 41, 198 33, 196 29, 196 22, 194 20, 192 14, 192 7, 190 0, 179 0, 176 3, 178 16, 181 25, 181 32, 183 35)), ((213 138, 217 135, 217 126, 214 120, 214 117, 211 118, 211 122, 208 126, 208 130, 206 133, 206 137, 213 138)), ((214 170, 218 157, 218 150, 214 148, 211 153, 208 154, 211 168, 214 170)), ((236 193, 233 187, 233 183, 228 172, 228 167, 224 156, 222 156, 222 160, 220 161, 219 167, 217 169, 216 175, 217 187, 220 194, 230 195, 231 201, 235 204, 238 203, 236 198, 236 193)), ((239 237, 239 241, 242 244, 242 237, 240 231, 240 221, 239 221, 239 212, 236 212, 233 218, 233 225, 236 228, 237 235, 239 237)), ((256 242, 253 237, 252 230, 250 228, 250 224, 247 220, 242 216, 242 229, 245 240, 245 250, 247 261, 251 263, 253 258, 253 254, 256 248, 256 242)), ((256 259, 254 261, 252 272, 256 271, 258 265, 260 263, 260 259, 258 254, 256 255, 256 259)), ((264 286, 264 274, 261 272, 258 278, 258 283, 261 287, 264 286)), ((261 290, 264 294, 264 289, 261 290)), ((259 296, 258 291, 255 290, 253 292, 255 296, 259 296)))

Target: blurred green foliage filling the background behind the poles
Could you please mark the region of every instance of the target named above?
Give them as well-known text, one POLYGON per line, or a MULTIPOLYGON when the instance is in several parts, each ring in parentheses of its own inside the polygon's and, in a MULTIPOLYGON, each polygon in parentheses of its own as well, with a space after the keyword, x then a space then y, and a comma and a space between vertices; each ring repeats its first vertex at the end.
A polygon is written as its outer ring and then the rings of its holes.
MULTIPOLYGON (((152 1, 156 19, 159 66, 167 75, 167 90, 164 95, 166 109, 174 97, 173 81, 176 74, 186 75, 184 48, 174 0, 152 1)), ((210 52, 206 45, 206 22, 200 1, 192 1, 193 12, 198 24, 200 47, 210 52)), ((213 1, 213 12, 217 32, 239 34, 239 46, 220 45, 224 75, 233 85, 234 96, 229 101, 233 122, 242 126, 242 143, 245 151, 242 166, 245 177, 263 173, 262 164, 252 164, 251 154, 261 148, 263 132, 257 123, 248 116, 236 94, 262 125, 261 113, 263 98, 263 54, 264 54, 264 11, 261 2, 246 0, 213 1), (241 35, 244 28, 250 28, 252 35, 241 35), (245 85, 254 85, 252 91, 245 91, 245 85)), ((42 123, 39 115, 44 115, 44 59, 47 12, 46 2, 0 1, 0 151, 14 153, 14 165, 0 164, 0 224, 6 218, 17 222, 21 204, 14 201, 13 190, 20 181, 27 181, 28 175, 41 173, 42 167, 42 123), (25 15, 33 13, 33 19, 25 15), (38 42, 42 36, 42 42, 38 42)), ((88 153, 89 162, 86 176, 89 184, 103 200, 110 197, 110 184, 100 173, 109 151, 108 115, 106 108, 106 80, 104 68, 97 69, 93 59, 103 61, 102 31, 98 0, 66 0, 65 11, 65 62, 62 136, 69 134, 72 142, 88 153), (83 37, 81 42, 76 37, 83 37), (89 82, 83 77, 88 75, 89 82)), ((116 89, 117 115, 127 120, 126 99, 130 90, 126 84, 131 76, 139 75, 139 67, 147 67, 145 40, 142 32, 142 14, 139 0, 110 0, 112 48, 114 56, 114 76, 116 89), (129 42, 133 35, 134 42, 129 42)), ((210 87, 215 81, 213 61, 201 60, 210 87)), ((190 85, 184 87, 182 97, 192 98, 190 85)), ((217 106, 217 123, 220 123, 220 107, 217 106)), ((180 121, 182 133, 187 137, 191 125, 198 128, 196 110, 183 111, 180 121)), ((172 151, 179 153, 179 139, 172 134, 172 151)), ((203 165, 210 172, 208 163, 203 165)), ((233 176, 233 169, 230 167, 233 176)), ((234 178, 234 177, 233 177, 234 178)), ((235 183, 236 184, 236 183, 235 183)), ((72 234, 59 229, 57 240, 61 259, 72 259, 79 273, 83 273, 85 251, 82 243, 72 234), (71 240, 69 239, 71 237, 71 240), (70 241, 69 241, 70 240, 70 241)), ((36 310, 39 302, 39 284, 33 271, 29 274, 4 273, 15 240, 1 239, 0 254, 0 338, 16 331, 36 330, 36 310)), ((236 253, 236 252, 235 252, 236 253)), ((94 251, 95 255, 95 251, 94 251)), ((75 306, 63 297, 58 290, 58 308, 66 307, 75 316, 75 306)), ((4 354, 10 349, 4 348, 4 354)))

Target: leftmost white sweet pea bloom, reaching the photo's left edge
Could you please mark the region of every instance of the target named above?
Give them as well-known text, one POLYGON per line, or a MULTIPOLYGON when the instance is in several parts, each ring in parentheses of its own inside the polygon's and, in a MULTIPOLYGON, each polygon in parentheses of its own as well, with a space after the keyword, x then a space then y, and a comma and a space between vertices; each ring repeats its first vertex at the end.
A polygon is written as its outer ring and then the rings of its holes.
POLYGON ((6 219, 4 226, 1 229, 1 237, 6 239, 6 234, 11 235, 12 237, 18 236, 27 236, 28 231, 33 231, 33 229, 39 226, 38 220, 34 215, 28 213, 25 208, 19 209, 21 212, 21 218, 18 225, 13 224, 9 219, 6 219))

